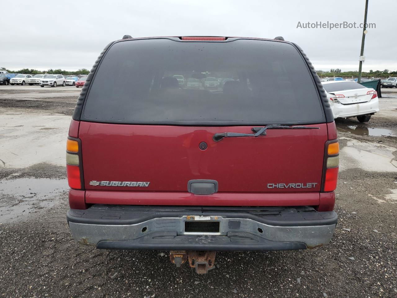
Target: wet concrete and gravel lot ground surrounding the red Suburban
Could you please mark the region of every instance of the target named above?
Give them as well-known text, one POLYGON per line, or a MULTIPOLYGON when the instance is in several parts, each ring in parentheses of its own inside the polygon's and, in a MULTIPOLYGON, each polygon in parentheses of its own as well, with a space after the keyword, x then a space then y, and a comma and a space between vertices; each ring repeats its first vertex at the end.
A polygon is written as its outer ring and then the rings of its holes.
POLYGON ((323 248, 218 252, 197 275, 168 252, 81 246, 66 223, 75 87, 0 86, 0 297, 396 297, 397 89, 367 124, 336 121, 339 222, 323 248))

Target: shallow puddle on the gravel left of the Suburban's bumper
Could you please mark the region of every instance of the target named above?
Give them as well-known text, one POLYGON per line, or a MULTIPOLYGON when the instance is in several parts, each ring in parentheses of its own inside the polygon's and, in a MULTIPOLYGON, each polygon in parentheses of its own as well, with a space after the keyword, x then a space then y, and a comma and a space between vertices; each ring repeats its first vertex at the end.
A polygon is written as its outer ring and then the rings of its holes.
POLYGON ((18 178, 0 181, 0 223, 54 206, 66 195, 67 180, 18 178))

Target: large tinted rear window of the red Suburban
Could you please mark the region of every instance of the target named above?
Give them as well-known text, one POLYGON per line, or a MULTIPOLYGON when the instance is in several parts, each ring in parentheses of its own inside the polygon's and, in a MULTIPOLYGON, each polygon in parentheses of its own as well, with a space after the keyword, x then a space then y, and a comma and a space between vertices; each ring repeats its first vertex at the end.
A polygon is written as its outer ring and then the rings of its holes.
POLYGON ((118 42, 108 50, 81 119, 256 125, 320 123, 325 118, 306 63, 290 44, 146 39, 118 42), (185 81, 178 81, 182 76, 185 81), (191 78, 200 82, 198 88, 188 84, 191 78), (218 83, 225 78, 232 80, 218 83))

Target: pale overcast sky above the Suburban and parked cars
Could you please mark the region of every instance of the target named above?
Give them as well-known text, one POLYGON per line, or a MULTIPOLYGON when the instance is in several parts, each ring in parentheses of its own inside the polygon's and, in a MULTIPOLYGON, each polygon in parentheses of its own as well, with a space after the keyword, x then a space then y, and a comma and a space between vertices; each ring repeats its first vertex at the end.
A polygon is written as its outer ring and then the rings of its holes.
MULTIPOLYGON (((397 70, 395 0, 369 0, 363 70, 397 70)), ((317 70, 358 70, 362 29, 302 29, 298 22, 364 19, 365 0, 2 1, 0 67, 91 69, 125 34, 242 36, 297 43, 317 70)))

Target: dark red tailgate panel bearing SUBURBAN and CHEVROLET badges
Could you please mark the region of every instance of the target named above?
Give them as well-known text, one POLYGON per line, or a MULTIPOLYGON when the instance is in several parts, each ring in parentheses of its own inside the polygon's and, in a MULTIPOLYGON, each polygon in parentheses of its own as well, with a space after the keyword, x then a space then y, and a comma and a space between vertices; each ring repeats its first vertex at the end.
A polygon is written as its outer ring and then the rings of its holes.
POLYGON ((189 180, 206 179, 218 181, 219 193, 320 192, 327 126, 310 126, 320 129, 268 130, 266 136, 215 142, 215 133, 251 133, 251 126, 81 122, 85 189, 187 192, 189 180))

